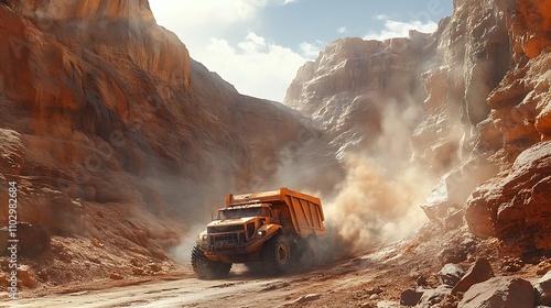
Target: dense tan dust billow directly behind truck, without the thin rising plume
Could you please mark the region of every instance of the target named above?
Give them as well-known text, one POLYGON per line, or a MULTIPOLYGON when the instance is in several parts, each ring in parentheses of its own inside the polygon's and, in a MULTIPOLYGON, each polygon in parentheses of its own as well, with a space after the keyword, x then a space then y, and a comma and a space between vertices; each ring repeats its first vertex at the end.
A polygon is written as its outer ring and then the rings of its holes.
POLYGON ((324 206, 329 237, 322 243, 329 258, 400 240, 426 221, 419 206, 433 182, 417 167, 391 175, 358 154, 348 155, 345 166, 338 195, 324 206))

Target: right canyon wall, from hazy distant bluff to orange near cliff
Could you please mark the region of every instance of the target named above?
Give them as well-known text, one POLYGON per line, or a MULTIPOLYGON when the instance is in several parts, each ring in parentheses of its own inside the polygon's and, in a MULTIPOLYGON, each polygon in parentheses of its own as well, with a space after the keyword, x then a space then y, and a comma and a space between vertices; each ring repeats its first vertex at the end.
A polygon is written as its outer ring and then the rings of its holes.
POLYGON ((398 107, 395 127, 413 110, 401 130, 411 152, 402 152, 442 177, 423 206, 428 217, 462 224, 465 216, 504 252, 549 254, 550 7, 454 1, 432 35, 337 40, 299 70, 285 103, 314 114, 339 155, 391 156, 402 139, 382 132, 386 107, 398 107))

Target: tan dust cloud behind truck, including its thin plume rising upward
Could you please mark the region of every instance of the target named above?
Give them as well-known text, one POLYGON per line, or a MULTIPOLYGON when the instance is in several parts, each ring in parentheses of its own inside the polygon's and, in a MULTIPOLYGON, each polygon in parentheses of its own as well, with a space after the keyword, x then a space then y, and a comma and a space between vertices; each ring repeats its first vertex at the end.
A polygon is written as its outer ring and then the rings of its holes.
POLYGON ((420 206, 436 177, 410 162, 410 136, 422 118, 419 103, 387 101, 375 144, 345 153, 345 179, 324 201, 326 257, 366 250, 412 234, 426 217, 420 206))

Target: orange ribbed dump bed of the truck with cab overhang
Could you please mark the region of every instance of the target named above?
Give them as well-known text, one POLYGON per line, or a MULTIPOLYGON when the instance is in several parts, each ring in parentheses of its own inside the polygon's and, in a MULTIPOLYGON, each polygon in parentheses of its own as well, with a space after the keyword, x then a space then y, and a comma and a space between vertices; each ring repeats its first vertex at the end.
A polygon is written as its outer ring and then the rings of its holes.
POLYGON ((289 226, 302 238, 326 233, 322 201, 320 198, 293 191, 285 187, 280 190, 257 194, 231 195, 226 198, 226 207, 271 204, 279 211, 283 226, 289 226))

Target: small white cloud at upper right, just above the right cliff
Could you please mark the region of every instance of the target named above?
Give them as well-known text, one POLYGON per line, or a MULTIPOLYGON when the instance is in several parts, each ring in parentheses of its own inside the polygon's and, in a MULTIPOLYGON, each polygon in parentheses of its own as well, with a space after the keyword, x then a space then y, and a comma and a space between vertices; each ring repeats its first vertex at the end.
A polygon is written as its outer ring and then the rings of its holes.
POLYGON ((379 33, 374 31, 369 32, 364 36, 364 40, 383 41, 393 37, 408 37, 410 30, 432 33, 436 31, 437 28, 437 23, 433 21, 429 21, 426 23, 421 21, 402 22, 390 20, 387 15, 378 15, 377 19, 385 20, 385 29, 379 33))

